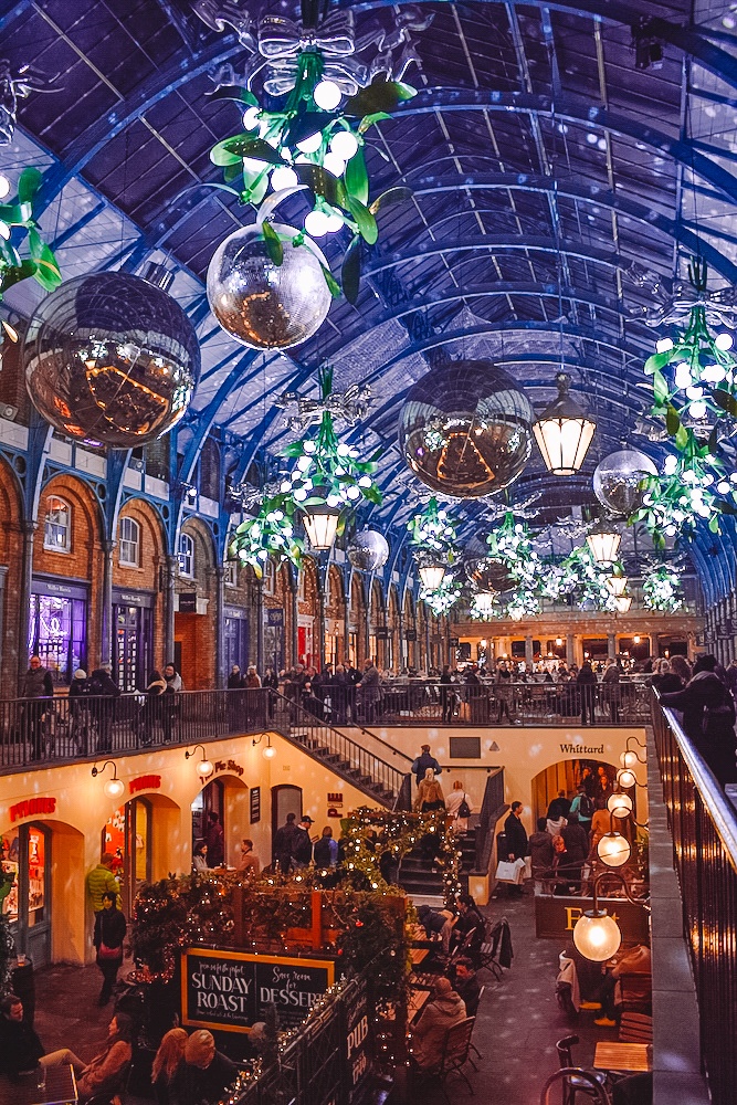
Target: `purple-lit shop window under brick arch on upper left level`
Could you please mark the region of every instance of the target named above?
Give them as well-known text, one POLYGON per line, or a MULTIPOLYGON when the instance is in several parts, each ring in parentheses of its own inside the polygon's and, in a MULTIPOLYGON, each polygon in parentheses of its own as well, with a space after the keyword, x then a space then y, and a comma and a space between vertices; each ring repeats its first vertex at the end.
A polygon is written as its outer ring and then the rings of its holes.
POLYGON ((86 667, 88 588, 34 577, 31 582, 29 654, 36 653, 54 683, 69 686, 86 667))

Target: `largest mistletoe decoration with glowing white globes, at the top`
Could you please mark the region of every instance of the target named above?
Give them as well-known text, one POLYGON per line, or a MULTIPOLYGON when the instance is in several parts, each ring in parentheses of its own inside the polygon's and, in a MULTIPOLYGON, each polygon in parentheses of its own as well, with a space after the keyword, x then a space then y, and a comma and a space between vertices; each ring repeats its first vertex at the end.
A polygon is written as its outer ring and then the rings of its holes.
MULTIPOLYGON (((315 12, 303 10, 305 30, 315 12)), ((377 215, 386 207, 407 200, 409 188, 389 188, 371 197, 365 148, 372 126, 391 118, 404 101, 417 95, 401 81, 375 78, 341 105, 338 84, 326 80, 326 60, 319 39, 306 33, 301 40, 293 87, 286 101, 271 110, 262 106, 245 85, 225 85, 213 99, 232 99, 243 110, 243 129, 210 151, 210 159, 223 170, 224 182, 215 187, 251 203, 256 211, 270 187, 280 200, 291 191, 307 188, 313 196, 312 210, 304 229, 322 238, 347 228, 350 243, 341 271, 343 293, 350 303, 358 299, 361 272, 361 243, 373 245, 379 236, 377 215), (329 87, 328 87, 329 86, 329 87)), ((283 246, 278 232, 261 219, 261 229, 274 264, 281 264, 283 246)), ((293 245, 304 245, 298 233, 293 245)), ((334 295, 340 286, 324 266, 325 278, 334 295)))

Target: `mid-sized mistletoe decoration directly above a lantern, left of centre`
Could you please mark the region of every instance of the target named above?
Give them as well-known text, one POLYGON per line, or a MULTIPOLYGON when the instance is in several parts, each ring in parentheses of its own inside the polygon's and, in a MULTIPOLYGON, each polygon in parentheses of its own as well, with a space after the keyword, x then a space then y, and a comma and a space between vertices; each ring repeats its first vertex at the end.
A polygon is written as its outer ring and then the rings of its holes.
POLYGON ((333 392, 333 369, 324 368, 318 376, 320 397, 326 409, 312 438, 302 438, 284 450, 284 455, 296 461, 288 480, 281 484, 284 502, 295 508, 308 511, 326 505, 341 508, 338 534, 343 533, 349 514, 360 499, 380 505, 381 492, 372 480, 380 451, 368 461, 360 461, 354 445, 338 440, 335 418, 328 409, 333 392))

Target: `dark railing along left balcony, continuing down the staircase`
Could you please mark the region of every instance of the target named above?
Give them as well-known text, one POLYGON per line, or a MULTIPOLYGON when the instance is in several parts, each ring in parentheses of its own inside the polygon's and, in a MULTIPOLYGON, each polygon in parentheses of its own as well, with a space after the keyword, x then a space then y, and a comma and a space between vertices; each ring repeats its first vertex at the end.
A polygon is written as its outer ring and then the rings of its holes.
MULTIPOLYGON (((323 706, 313 699, 316 712, 323 706)), ((404 807, 407 771, 277 691, 180 691, 150 697, 55 695, 0 702, 0 769, 101 758, 273 729, 385 806, 404 807)), ((409 809, 409 807, 407 807, 409 809)))

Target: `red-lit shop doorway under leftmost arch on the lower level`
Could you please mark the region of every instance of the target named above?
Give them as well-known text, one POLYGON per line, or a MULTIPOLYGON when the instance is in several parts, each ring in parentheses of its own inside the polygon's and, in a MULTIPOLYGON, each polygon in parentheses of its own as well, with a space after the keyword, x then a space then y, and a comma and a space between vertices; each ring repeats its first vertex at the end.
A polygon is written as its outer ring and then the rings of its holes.
POLYGON ((6 836, 2 870, 15 882, 2 905, 15 949, 34 967, 51 962, 51 830, 23 824, 6 836))

